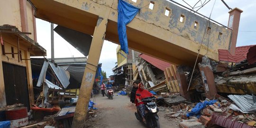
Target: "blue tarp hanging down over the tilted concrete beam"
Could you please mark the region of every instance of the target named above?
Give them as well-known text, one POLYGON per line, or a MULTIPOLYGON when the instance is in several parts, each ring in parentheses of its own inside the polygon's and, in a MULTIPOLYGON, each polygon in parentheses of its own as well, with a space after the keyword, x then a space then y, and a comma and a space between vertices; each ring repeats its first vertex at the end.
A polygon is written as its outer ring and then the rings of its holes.
POLYGON ((126 35, 126 25, 132 21, 139 9, 125 2, 118 0, 118 36, 121 49, 128 54, 128 41, 126 35))

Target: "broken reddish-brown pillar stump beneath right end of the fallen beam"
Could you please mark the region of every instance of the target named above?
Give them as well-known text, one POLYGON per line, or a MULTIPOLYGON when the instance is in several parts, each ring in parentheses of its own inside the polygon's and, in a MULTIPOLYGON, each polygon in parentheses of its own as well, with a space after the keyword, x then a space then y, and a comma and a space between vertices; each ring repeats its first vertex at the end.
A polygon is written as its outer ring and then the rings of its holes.
POLYGON ((202 76, 205 96, 206 98, 212 98, 217 94, 213 73, 208 65, 199 64, 199 69, 202 76))

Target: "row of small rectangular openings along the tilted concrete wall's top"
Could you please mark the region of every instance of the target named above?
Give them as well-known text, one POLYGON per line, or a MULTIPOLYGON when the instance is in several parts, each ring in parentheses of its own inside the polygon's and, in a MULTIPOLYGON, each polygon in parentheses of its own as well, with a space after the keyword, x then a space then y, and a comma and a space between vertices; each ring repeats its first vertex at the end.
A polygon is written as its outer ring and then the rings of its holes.
MULTIPOLYGON (((137 0, 132 0, 132 1, 137 2, 137 0)), ((154 4, 155 4, 155 2, 150 1, 148 8, 153 10, 154 9, 154 4)), ((165 8, 165 16, 169 17, 170 11, 171 11, 171 9, 165 8)), ((184 23, 184 18, 185 18, 185 16, 181 15, 179 21, 184 23)), ((198 29, 198 22, 197 21, 194 22, 194 28, 198 29)), ((210 35, 210 27, 207 28, 207 34, 210 35)), ((222 36, 222 33, 219 32, 219 39, 221 38, 221 36, 222 36)))

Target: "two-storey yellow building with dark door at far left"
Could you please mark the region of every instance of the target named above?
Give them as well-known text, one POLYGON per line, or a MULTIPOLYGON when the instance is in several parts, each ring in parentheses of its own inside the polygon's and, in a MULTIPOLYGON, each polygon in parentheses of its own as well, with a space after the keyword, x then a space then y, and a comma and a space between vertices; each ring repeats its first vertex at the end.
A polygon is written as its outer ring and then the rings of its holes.
POLYGON ((34 103, 30 56, 44 56, 27 0, 0 0, 0 107, 34 103))

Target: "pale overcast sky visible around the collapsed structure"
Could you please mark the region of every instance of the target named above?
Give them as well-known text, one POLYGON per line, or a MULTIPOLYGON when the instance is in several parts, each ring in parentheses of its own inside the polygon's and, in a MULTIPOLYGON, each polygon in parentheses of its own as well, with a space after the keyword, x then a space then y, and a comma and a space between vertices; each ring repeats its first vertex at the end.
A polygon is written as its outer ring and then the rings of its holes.
MULTIPOLYGON (((174 0, 178 3, 190 8, 183 0, 174 0)), ((193 6, 198 0, 185 0, 190 6, 193 6)), ((205 0, 201 0, 202 3, 205 0)), ((208 1, 208 0, 206 0, 208 1)), ((204 7, 198 10, 199 13, 210 17, 210 11, 215 0, 210 0, 204 7)), ((230 8, 239 8, 244 12, 241 14, 240 25, 238 31, 237 46, 256 45, 256 0, 224 0, 230 8)), ((200 5, 199 2, 198 5, 200 5)), ((198 8, 197 8, 198 9, 198 8)), ((216 0, 211 18, 215 21, 228 26, 229 9, 221 2, 216 0)), ((37 42, 47 50, 47 58, 51 57, 51 32, 50 23, 41 19, 37 19, 37 42)), ((55 25, 56 27, 57 25, 55 25)), ((54 35, 55 41, 55 58, 63 57, 82 57, 83 55, 73 46, 66 42, 57 33, 54 35)), ((101 51, 99 63, 102 63, 102 70, 107 73, 107 77, 112 75, 112 68, 117 62, 116 55, 117 45, 109 41, 104 41, 101 51)))

